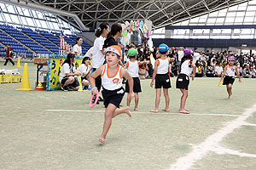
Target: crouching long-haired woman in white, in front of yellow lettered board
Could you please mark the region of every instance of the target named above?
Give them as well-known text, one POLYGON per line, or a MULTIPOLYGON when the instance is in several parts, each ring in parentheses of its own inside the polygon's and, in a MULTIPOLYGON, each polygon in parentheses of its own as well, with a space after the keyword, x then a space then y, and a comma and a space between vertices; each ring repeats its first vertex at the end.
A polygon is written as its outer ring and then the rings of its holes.
POLYGON ((62 67, 61 67, 61 89, 63 91, 68 91, 69 88, 73 88, 73 90, 79 90, 79 81, 74 76, 80 76, 79 73, 76 72, 76 67, 74 65, 75 54, 67 54, 67 59, 65 59, 62 67))

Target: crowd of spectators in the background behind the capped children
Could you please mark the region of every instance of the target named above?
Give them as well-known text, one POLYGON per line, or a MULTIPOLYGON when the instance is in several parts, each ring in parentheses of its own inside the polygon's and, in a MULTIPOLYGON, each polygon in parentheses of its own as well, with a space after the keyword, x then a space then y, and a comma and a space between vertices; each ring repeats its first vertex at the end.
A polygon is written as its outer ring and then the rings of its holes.
MULTIPOLYGON (((129 60, 129 56, 127 56, 127 52, 129 48, 136 48, 135 45, 130 44, 125 47, 125 56, 124 63, 129 60)), ((154 59, 158 59, 160 54, 158 48, 153 48, 153 50, 149 50, 149 48, 143 48, 141 44, 137 45, 137 59, 140 61, 148 60, 148 64, 139 65, 140 70, 140 78, 152 77, 153 67, 150 63, 150 55, 152 54, 154 59)), ((170 76, 177 77, 180 72, 180 66, 182 63, 182 59, 184 56, 183 53, 184 48, 170 48, 169 54, 167 55, 170 58, 170 76)), ((244 78, 255 78, 256 74, 256 56, 255 54, 237 54, 232 53, 231 51, 217 52, 212 49, 210 52, 207 50, 199 51, 198 48, 195 48, 195 54, 193 57, 193 61, 196 65, 196 74, 195 77, 221 77, 222 72, 224 71, 225 65, 227 65, 228 58, 230 56, 234 56, 236 58, 236 66, 238 67, 238 72, 241 77, 244 78)))

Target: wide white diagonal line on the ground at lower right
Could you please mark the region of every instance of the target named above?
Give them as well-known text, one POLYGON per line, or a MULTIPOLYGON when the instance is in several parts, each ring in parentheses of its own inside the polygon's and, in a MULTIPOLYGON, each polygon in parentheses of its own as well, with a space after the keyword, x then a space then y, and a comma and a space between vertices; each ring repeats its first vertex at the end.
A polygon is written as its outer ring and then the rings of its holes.
POLYGON ((194 165, 196 161, 201 160, 207 155, 209 150, 214 150, 218 147, 219 142, 224 139, 229 133, 232 133, 236 128, 245 124, 245 120, 256 111, 256 104, 252 108, 247 109, 242 116, 238 116, 236 120, 228 122, 225 127, 218 130, 217 133, 213 133, 204 142, 197 145, 187 156, 183 156, 170 166, 170 170, 186 170, 194 165))

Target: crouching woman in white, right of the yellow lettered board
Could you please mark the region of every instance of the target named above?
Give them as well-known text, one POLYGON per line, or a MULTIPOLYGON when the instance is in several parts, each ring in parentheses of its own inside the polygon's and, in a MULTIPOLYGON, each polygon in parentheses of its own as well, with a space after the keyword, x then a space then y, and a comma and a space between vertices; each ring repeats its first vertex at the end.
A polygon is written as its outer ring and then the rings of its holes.
POLYGON ((89 86, 89 77, 90 77, 90 70, 92 66, 90 65, 90 58, 84 57, 82 64, 78 68, 78 73, 81 75, 82 85, 84 86, 84 90, 87 90, 89 86))

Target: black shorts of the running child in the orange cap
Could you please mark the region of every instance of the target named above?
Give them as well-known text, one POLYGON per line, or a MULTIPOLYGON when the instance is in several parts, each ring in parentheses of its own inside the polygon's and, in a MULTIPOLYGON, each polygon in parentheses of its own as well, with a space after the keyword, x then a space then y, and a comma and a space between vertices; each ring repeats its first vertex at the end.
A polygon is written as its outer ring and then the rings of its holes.
POLYGON ((119 108, 124 95, 125 90, 123 87, 116 90, 107 90, 106 88, 103 88, 102 97, 104 99, 104 106, 107 108, 109 104, 113 104, 119 108))

